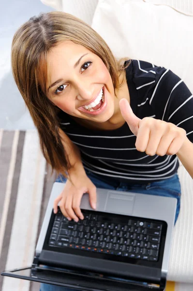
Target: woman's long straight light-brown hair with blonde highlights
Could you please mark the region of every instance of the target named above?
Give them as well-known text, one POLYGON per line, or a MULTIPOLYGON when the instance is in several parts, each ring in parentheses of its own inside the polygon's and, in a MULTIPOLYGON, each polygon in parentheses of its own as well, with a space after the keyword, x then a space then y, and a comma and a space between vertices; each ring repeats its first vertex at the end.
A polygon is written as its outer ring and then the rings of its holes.
POLYGON ((59 135, 57 113, 60 109, 44 94, 47 54, 64 40, 82 45, 102 59, 111 75, 115 92, 122 84, 119 83, 119 74, 130 63, 124 63, 128 58, 116 60, 97 32, 79 18, 64 12, 54 11, 31 17, 15 32, 11 57, 16 85, 38 129, 46 161, 52 172, 55 169, 66 177, 71 165, 59 135), (40 83, 44 83, 44 88, 40 83))

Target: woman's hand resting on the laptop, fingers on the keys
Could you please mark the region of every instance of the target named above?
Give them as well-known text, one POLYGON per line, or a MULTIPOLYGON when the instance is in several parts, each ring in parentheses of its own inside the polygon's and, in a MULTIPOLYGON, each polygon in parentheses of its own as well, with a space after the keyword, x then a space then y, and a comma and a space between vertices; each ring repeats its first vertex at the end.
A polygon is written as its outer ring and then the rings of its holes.
POLYGON ((71 181, 68 179, 63 191, 54 200, 54 213, 57 213, 58 203, 62 214, 69 220, 74 219, 78 222, 78 218, 84 219, 80 210, 80 202, 84 193, 89 193, 90 206, 96 209, 96 187, 87 177, 86 173, 77 173, 71 175, 71 181))

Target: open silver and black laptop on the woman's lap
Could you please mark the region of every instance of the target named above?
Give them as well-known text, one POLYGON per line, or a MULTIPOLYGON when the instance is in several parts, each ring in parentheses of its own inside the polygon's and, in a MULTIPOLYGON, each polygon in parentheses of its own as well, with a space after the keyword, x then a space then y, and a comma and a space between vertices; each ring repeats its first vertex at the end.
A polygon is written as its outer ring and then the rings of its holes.
MULTIPOLYGON (((55 182, 31 266, 1 275, 86 291, 165 290, 177 199, 97 188, 84 194, 84 220, 68 221, 55 182)), ((19 266, 18 266, 19 267, 19 266)))

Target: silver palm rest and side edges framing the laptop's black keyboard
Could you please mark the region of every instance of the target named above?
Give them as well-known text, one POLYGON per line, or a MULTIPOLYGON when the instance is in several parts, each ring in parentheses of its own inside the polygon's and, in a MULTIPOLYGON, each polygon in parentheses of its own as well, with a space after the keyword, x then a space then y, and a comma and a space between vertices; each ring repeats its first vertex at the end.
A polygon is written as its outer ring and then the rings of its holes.
MULTIPOLYGON (((65 183, 55 182, 48 201, 45 218, 36 246, 39 256, 45 241, 55 198, 61 193, 65 183)), ((167 234, 163 253, 162 273, 167 274, 172 233, 175 222, 177 199, 134 192, 122 192, 97 188, 96 211, 163 220, 167 223, 167 234)), ((84 194, 80 208, 93 210, 89 204, 89 194, 84 194)))

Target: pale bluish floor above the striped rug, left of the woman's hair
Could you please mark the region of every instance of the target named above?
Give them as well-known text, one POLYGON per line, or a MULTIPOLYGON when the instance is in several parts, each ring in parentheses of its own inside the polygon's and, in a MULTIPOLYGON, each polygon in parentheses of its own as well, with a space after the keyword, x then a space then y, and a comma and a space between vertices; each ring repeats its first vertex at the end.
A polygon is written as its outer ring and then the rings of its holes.
POLYGON ((34 129, 11 72, 11 44, 17 28, 31 16, 52 11, 40 0, 0 1, 0 128, 34 129))

